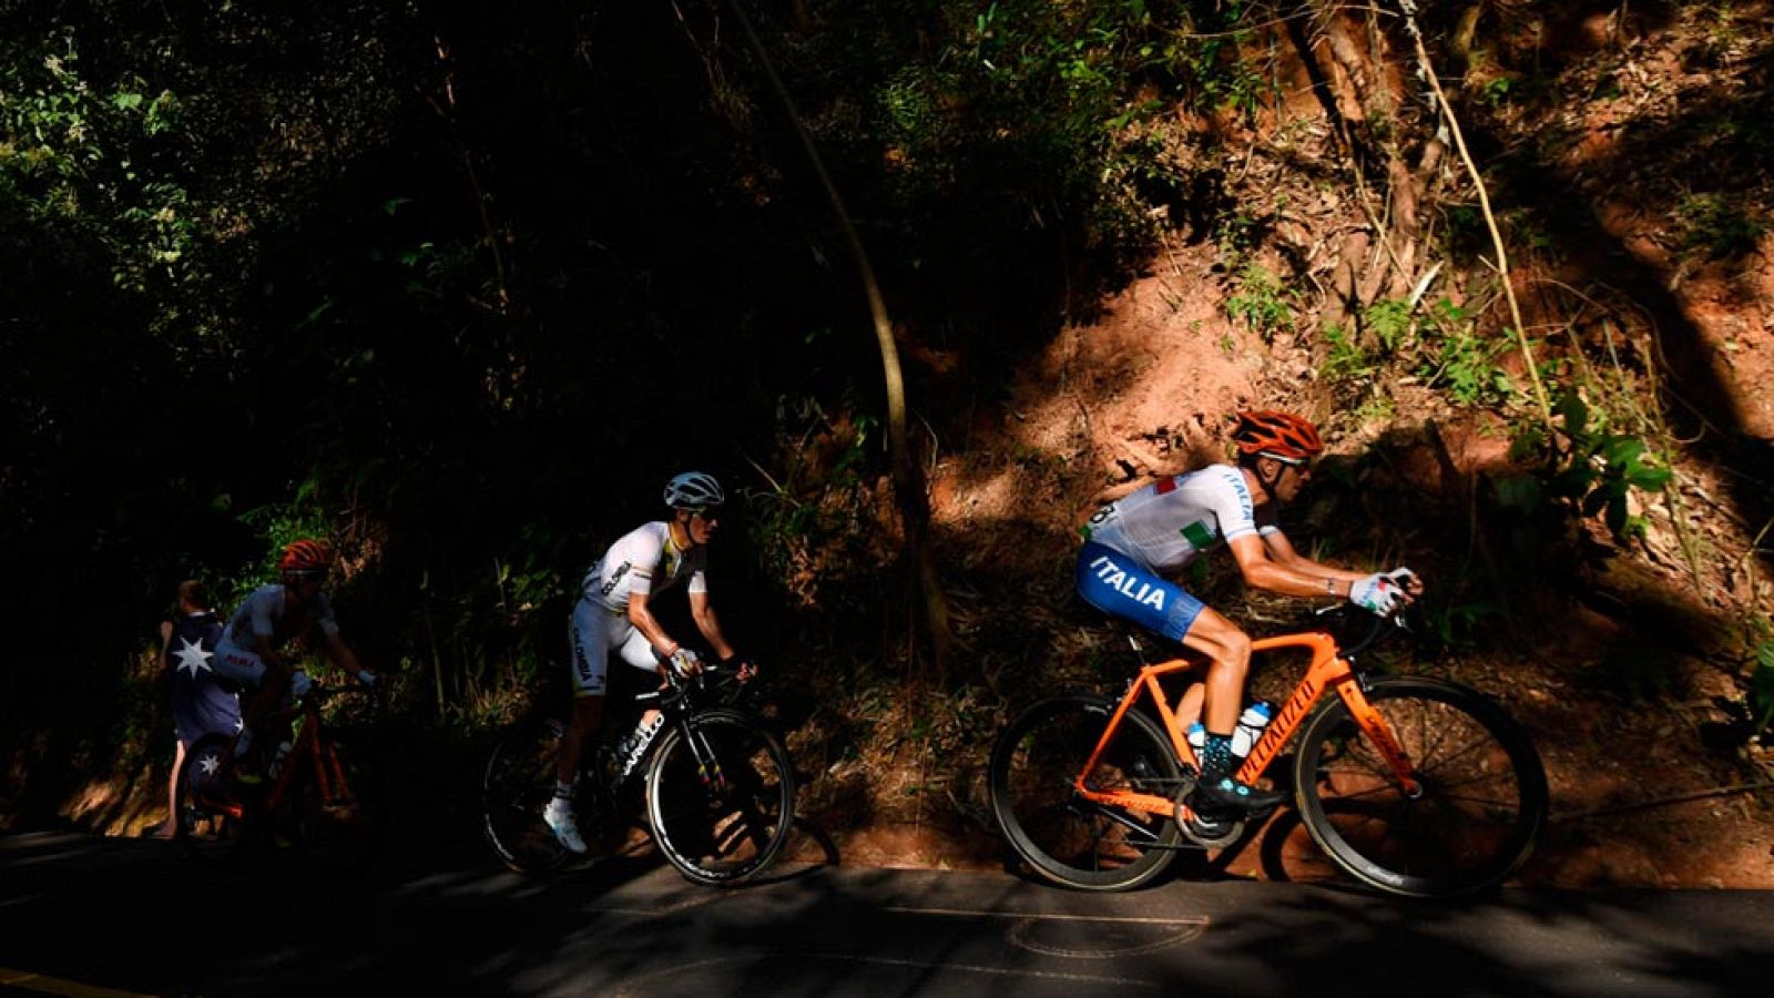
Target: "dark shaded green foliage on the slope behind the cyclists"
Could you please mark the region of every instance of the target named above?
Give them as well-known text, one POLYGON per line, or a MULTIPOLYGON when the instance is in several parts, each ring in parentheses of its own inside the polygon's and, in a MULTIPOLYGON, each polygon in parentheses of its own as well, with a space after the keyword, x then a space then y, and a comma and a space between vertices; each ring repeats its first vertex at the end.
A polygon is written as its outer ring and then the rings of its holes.
MULTIPOLYGON (((1315 7, 747 4, 908 341, 965 359, 914 371, 926 423, 965 424, 1169 236, 1224 247, 1233 321, 1291 329, 1307 275, 1254 254, 1281 206, 1229 202, 1213 156, 1315 7)), ((738 37, 704 0, 0 0, 0 584, 51 636, 14 643, 0 730, 106 758, 172 586, 227 604, 309 533, 404 710, 477 721, 541 682, 578 572, 683 467, 749 495, 717 563, 742 643, 903 632, 860 291, 738 37)), ((1531 99, 1508 57, 1478 110, 1531 99)), ((1696 252, 1754 245, 1701 194, 1696 252)), ((1448 218, 1472 245, 1471 206, 1448 218)), ((1401 305, 1323 330, 1352 408, 1387 369, 1520 401, 1501 330, 1401 305)), ((1668 462, 1566 398, 1499 506, 1630 536, 1668 462)))

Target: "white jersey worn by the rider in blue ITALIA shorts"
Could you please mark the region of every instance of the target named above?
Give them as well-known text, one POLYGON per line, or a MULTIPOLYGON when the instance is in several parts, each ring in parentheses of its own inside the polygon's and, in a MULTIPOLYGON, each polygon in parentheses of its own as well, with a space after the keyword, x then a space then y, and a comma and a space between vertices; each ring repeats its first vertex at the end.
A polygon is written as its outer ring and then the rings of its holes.
POLYGON ((1277 533, 1274 504, 1256 513, 1244 472, 1215 463, 1162 478, 1096 510, 1084 540, 1135 558, 1148 572, 1169 575, 1245 535, 1277 533))

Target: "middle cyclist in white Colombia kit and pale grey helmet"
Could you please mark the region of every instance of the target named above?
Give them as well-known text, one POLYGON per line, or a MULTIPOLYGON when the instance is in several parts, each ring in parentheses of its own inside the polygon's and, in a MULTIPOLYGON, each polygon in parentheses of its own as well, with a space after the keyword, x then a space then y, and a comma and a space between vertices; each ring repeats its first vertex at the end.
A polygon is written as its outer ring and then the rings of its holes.
MULTIPOLYGON (((653 597, 685 584, 690 616, 720 662, 740 666, 740 678, 756 671, 733 652, 708 600, 708 542, 720 527, 724 501, 726 494, 713 476, 690 471, 672 478, 665 485, 671 519, 630 531, 585 572, 568 632, 573 648, 573 723, 561 739, 555 796, 543 812, 555 838, 573 852, 585 852, 573 817, 573 781, 580 753, 603 719, 610 652, 648 671, 671 668, 692 675, 703 668, 695 652, 674 641, 648 609, 653 597)), ((649 712, 642 723, 656 723, 655 714, 649 712)))

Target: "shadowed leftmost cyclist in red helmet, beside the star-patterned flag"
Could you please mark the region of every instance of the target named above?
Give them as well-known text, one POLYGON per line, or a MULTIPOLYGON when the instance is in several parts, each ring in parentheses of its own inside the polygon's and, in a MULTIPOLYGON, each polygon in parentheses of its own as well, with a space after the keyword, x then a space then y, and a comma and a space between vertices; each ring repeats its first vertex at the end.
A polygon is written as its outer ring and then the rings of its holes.
POLYGON ((321 591, 321 582, 332 570, 332 549, 326 542, 289 543, 277 559, 277 570, 282 574, 282 582, 259 586, 241 600, 216 645, 216 673, 234 680, 243 691, 257 691, 250 694, 245 730, 234 744, 234 755, 245 755, 252 748, 257 723, 286 696, 302 696, 312 685, 309 675, 284 653, 284 648, 298 638, 307 638, 364 685, 376 685, 376 673, 360 666, 357 655, 339 638, 332 604, 321 591))

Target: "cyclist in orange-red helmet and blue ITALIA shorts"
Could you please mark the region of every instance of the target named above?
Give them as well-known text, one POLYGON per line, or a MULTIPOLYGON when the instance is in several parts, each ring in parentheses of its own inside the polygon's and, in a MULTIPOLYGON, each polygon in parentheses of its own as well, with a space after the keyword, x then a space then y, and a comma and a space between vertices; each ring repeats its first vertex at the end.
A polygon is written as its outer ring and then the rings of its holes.
POLYGON ((1323 453, 1318 430, 1288 412, 1240 412, 1231 435, 1238 463, 1167 476, 1098 510, 1084 526, 1075 584, 1086 602, 1208 657, 1206 682, 1189 689, 1178 719, 1206 728, 1201 813, 1272 808, 1284 794, 1238 781, 1231 735, 1251 668, 1251 638, 1166 579, 1205 550, 1228 547, 1247 586, 1290 597, 1346 598, 1378 614, 1412 602, 1423 584, 1409 568, 1346 572, 1293 549, 1277 511, 1311 479, 1323 453))

